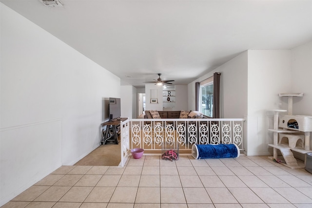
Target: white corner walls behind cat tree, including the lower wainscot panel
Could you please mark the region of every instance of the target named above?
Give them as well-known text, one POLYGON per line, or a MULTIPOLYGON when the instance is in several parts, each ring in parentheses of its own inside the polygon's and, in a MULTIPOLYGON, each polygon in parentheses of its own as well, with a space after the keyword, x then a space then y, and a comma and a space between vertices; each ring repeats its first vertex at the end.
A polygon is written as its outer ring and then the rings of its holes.
POLYGON ((279 93, 304 93, 293 97, 293 114, 312 115, 311 69, 312 42, 292 50, 248 51, 248 155, 272 154, 273 133, 267 129, 273 128, 273 112, 268 110, 287 110, 288 103, 279 93))

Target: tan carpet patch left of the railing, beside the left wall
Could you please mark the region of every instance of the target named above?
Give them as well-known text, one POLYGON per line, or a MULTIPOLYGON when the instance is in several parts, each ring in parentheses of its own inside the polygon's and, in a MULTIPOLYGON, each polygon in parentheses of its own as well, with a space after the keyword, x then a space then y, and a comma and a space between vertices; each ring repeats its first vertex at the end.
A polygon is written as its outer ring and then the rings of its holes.
POLYGON ((100 145, 90 154, 79 160, 75 166, 118 166, 120 163, 120 144, 100 145))

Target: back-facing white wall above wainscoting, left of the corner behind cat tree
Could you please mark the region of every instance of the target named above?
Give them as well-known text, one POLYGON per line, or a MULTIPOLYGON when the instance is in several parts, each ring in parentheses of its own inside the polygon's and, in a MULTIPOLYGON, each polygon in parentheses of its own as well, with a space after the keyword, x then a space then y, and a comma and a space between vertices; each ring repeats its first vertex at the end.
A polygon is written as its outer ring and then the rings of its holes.
MULTIPOLYGON (((291 89, 290 50, 248 51, 248 114, 267 114, 268 109, 284 109, 279 93, 291 89)), ((287 106, 286 106, 287 109, 287 106)))

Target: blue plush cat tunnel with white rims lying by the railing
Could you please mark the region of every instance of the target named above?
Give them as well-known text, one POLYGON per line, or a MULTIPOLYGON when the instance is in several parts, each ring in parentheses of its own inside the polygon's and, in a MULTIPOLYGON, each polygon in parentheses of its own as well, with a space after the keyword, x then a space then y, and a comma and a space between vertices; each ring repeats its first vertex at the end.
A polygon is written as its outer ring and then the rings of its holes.
POLYGON ((195 159, 235 158, 239 157, 239 148, 236 144, 193 145, 192 156, 195 159))

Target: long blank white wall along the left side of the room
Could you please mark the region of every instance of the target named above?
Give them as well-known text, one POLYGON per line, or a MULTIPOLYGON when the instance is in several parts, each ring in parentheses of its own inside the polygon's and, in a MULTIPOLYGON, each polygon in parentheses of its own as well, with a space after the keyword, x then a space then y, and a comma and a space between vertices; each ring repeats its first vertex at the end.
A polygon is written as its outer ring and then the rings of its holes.
POLYGON ((2 3, 0 21, 1 206, 98 147, 120 78, 2 3))

